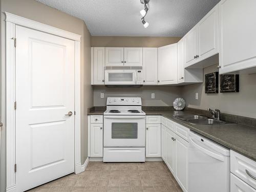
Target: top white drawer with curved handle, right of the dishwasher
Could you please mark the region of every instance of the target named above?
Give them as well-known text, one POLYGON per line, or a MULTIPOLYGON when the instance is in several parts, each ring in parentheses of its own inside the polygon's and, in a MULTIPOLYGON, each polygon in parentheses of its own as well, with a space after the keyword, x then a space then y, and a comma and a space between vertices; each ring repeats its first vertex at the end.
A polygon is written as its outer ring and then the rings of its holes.
POLYGON ((256 162, 237 153, 230 151, 230 170, 244 182, 256 189, 256 162))

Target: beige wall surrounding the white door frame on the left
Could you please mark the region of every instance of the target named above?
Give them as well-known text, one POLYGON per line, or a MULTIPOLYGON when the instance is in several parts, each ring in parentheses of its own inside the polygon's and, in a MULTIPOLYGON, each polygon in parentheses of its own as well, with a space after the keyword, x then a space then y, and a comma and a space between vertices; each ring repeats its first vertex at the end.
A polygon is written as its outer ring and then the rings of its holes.
MULTIPOLYGON (((1 118, 5 124, 5 15, 3 12, 10 12, 19 16, 23 16, 39 23, 50 25, 59 29, 70 31, 79 35, 81 38, 81 161, 87 158, 87 108, 93 105, 93 90, 88 84, 91 79, 91 35, 84 24, 83 20, 50 8, 44 4, 34 0, 1 0, 1 38, 2 38, 2 58, 1 58, 1 83, 4 91, 2 91, 2 111, 1 118)), ((0 191, 5 191, 5 126, 1 130, 1 179, 0 191)))

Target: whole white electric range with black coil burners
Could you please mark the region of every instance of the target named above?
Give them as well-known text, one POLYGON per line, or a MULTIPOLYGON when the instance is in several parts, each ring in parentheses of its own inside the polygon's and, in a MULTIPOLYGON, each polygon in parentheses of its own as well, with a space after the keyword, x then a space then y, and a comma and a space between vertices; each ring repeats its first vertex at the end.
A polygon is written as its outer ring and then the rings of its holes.
POLYGON ((103 114, 103 162, 144 162, 145 121, 140 97, 108 97, 103 114))

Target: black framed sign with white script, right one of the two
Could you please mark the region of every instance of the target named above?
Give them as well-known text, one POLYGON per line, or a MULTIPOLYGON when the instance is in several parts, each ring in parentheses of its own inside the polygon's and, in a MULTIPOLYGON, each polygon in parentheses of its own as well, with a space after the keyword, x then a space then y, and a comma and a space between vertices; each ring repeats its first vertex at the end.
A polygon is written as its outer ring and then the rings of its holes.
POLYGON ((239 92, 239 75, 224 74, 220 75, 220 92, 239 92))

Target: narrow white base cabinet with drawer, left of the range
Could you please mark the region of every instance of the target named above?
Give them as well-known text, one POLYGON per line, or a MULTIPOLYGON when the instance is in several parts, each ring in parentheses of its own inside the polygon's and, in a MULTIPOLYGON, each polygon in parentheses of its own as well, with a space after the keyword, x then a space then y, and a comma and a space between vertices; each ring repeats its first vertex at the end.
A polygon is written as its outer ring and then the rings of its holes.
POLYGON ((103 157, 103 115, 88 116, 88 156, 103 157))

